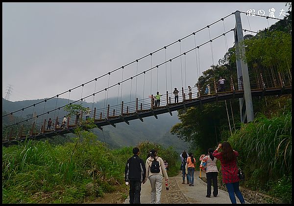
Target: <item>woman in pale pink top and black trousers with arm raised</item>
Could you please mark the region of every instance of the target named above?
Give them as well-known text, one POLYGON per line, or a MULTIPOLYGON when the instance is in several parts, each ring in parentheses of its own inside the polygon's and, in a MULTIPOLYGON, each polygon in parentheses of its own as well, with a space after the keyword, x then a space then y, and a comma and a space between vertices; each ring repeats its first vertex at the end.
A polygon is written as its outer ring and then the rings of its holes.
POLYGON ((210 197, 211 195, 211 183, 213 183, 213 196, 217 197, 219 194, 219 189, 218 189, 218 174, 219 170, 216 165, 217 158, 215 158, 212 154, 214 152, 213 148, 208 149, 208 155, 201 155, 199 160, 200 161, 206 161, 207 166, 206 166, 206 180, 207 180, 207 194, 206 197, 210 197))

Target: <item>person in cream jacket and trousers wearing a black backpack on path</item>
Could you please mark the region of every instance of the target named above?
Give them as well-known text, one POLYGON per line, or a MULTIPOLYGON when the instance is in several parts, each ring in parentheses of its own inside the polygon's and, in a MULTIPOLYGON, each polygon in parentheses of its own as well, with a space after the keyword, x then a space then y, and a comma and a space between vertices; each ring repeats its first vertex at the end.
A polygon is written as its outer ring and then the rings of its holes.
POLYGON ((157 156, 157 151, 155 149, 150 150, 149 157, 146 160, 145 166, 146 166, 145 182, 147 181, 147 178, 148 178, 151 185, 150 203, 160 203, 163 176, 165 177, 166 181, 168 181, 169 177, 165 169, 164 162, 161 157, 157 156))

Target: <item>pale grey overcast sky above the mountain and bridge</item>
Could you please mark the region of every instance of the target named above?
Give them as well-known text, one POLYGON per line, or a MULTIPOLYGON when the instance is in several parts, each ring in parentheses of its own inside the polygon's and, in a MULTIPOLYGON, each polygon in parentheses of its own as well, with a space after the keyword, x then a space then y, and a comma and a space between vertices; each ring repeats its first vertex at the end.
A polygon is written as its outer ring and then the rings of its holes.
MULTIPOLYGON (((12 102, 49 98, 91 81, 127 63, 226 17, 236 10, 274 8, 283 19, 283 3, 2 3, 2 97, 9 85, 12 102)), ((277 20, 241 14, 243 29, 263 30, 277 20)), ((141 73, 213 39, 235 27, 235 16, 203 29, 167 49, 132 63, 73 90, 77 100, 141 73), (210 36, 210 37, 209 37, 210 36), (195 42, 196 41, 196 42, 195 42), (108 83, 109 82, 109 83, 108 83)), ((250 34, 245 32, 245 34, 250 34)), ((233 32, 187 53, 182 58, 140 75, 121 87, 109 89, 109 97, 123 94, 147 98, 171 92, 174 87, 192 87, 199 74, 217 64, 234 43, 233 32), (226 44, 227 42, 227 44, 226 44), (211 49, 212 46, 212 49, 211 49), (199 58, 196 61, 196 56, 199 58), (172 66, 172 75, 171 75, 172 66), (157 76, 158 72, 158 76, 157 76), (137 81, 137 84, 136 84, 137 81), (144 84, 145 82, 145 84, 144 84)), ((60 96, 69 98, 69 93, 60 96)), ((103 100, 105 92, 95 96, 103 100)), ((86 102, 93 102, 93 97, 86 102)))

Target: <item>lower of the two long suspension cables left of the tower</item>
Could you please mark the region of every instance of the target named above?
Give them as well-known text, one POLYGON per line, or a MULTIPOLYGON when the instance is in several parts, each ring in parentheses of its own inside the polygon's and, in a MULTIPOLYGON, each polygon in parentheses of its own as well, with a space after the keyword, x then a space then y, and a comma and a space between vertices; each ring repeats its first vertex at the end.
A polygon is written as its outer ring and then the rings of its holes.
MULTIPOLYGON (((224 34, 229 33, 229 32, 231 32, 231 31, 233 31, 233 30, 234 30, 234 29, 231 29, 231 30, 225 32, 224 34)), ((208 43, 208 42, 212 42, 212 41, 214 41, 214 40, 220 38, 222 35, 223 35, 223 34, 221 34, 221 35, 215 37, 215 38, 212 39, 212 40, 206 41, 206 42, 204 42, 204 43, 198 45, 197 47, 188 50, 188 51, 185 52, 185 53, 189 53, 189 52, 193 51, 194 49, 199 48, 200 46, 205 45, 205 44, 208 43)), ((172 60, 174 60, 174 59, 176 59, 176 58, 178 58, 178 57, 181 57, 182 55, 184 55, 184 53, 183 53, 183 54, 180 54, 180 55, 178 55, 178 56, 176 56, 176 57, 173 57, 173 58, 170 59, 169 61, 172 62, 172 60)), ((168 62, 168 61, 166 61, 166 62, 168 62)), ((154 66, 154 67, 151 67, 151 68, 147 69, 147 70, 144 71, 144 72, 141 72, 141 73, 139 73, 139 74, 137 74, 137 75, 135 75, 135 76, 133 76, 133 77, 130 77, 130 78, 128 78, 128 79, 125 79, 125 80, 123 80, 122 82, 118 82, 117 84, 113 84, 113 85, 111 85, 111 86, 108 86, 108 87, 105 88, 105 89, 102 89, 102 90, 100 90, 100 91, 98 91, 98 92, 96 92, 96 93, 93 93, 93 96, 94 96, 95 94, 97 94, 97 93, 100 93, 100 92, 104 91, 104 90, 106 91, 107 89, 112 88, 112 87, 114 87, 114 86, 116 86, 116 85, 122 84, 123 82, 126 82, 126 81, 128 81, 128 80, 130 80, 130 79, 132 79, 132 78, 134 78, 134 77, 137 77, 137 76, 139 76, 139 75, 141 75, 141 74, 145 74, 146 72, 151 71, 152 69, 157 68, 157 67, 161 66, 162 64, 164 64, 164 63, 166 63, 166 62, 162 62, 162 63, 160 63, 160 64, 158 64, 158 65, 156 65, 156 66, 154 66)), ((110 72, 109 72, 108 74, 110 75, 110 72)), ((108 83, 108 84, 109 84, 109 83, 108 83)), ((69 92, 71 92, 71 90, 69 90, 69 92)), ((70 94, 69 94, 69 95, 70 95, 70 94)), ((90 97, 90 96, 92 96, 92 95, 88 95, 87 97, 84 97, 83 99, 86 99, 86 98, 88 98, 88 97, 90 97)), ((121 93, 121 98, 122 98, 122 93, 121 93)), ((76 103, 76 102, 78 102, 78 101, 80 101, 80 100, 76 100, 76 101, 74 101, 74 102, 72 102, 72 103, 68 103, 68 104, 73 104, 73 103, 76 103)), ((66 105, 68 105, 68 104, 66 104, 66 105)), ((63 106, 59 107, 59 109, 65 107, 66 105, 63 105, 63 106)), ((52 112, 52 111, 55 111, 55 110, 56 110, 56 108, 53 109, 53 110, 51 110, 51 111, 48 111, 47 113, 52 112)), ((42 115, 44 115, 44 114, 40 114, 39 116, 42 116, 42 115)), ((27 120, 25 120, 25 121, 28 121, 28 120, 31 120, 31 119, 32 119, 32 118, 27 119, 27 120)), ((22 121, 22 122, 25 122, 25 121, 22 121)), ((21 122, 19 122, 19 123, 21 123, 21 122)), ((11 124, 11 125, 8 125, 8 126, 2 127, 2 128, 6 128, 6 127, 9 127, 9 126, 12 126, 12 125, 15 125, 15 124, 11 124)))

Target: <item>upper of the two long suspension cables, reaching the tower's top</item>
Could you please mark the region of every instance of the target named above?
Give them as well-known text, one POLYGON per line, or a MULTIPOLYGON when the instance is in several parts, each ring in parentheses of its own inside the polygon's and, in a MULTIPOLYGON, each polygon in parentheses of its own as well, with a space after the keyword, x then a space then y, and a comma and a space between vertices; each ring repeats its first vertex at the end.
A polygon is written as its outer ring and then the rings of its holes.
MULTIPOLYGON (((231 14, 225 16, 225 17, 222 18, 222 19, 225 19, 225 18, 227 18, 227 17, 229 17, 229 16, 231 16, 231 15, 233 15, 233 14, 235 14, 235 12, 233 12, 233 13, 231 13, 231 14)), ((217 23, 217 22, 219 22, 219 21, 221 21, 221 20, 215 21, 215 22, 213 22, 213 23, 211 23, 211 24, 209 24, 209 25, 211 26, 211 25, 213 25, 213 24, 215 24, 215 23, 217 23)), ((196 32, 193 32, 192 34, 189 34, 189 35, 183 37, 183 38, 180 39, 180 40, 184 40, 184 39, 190 37, 191 35, 193 35, 193 34, 195 34, 195 33, 197 33, 197 32, 200 32, 201 30, 203 30, 203 29, 205 29, 205 28, 206 28, 206 27, 203 27, 203 28, 197 30, 196 32)), ((137 60, 138 60, 138 61, 139 61, 139 60, 142 60, 142 59, 148 57, 149 55, 152 56, 152 54, 154 54, 154 53, 156 53, 156 52, 158 52, 158 51, 160 51, 160 50, 162 50, 162 49, 166 49, 166 47, 169 47, 169 46, 173 45, 173 44, 176 43, 176 42, 178 42, 178 40, 177 40, 177 41, 174 41, 174 42, 172 42, 172 43, 170 43, 170 44, 168 44, 168 45, 166 45, 166 46, 164 46, 164 47, 162 47, 162 48, 160 48, 160 49, 157 49, 156 51, 151 52, 150 54, 145 55, 145 56, 143 56, 143 57, 141 57, 141 58, 139 58, 139 59, 137 59, 137 60)), ((85 82, 85 83, 83 83, 83 84, 85 85, 85 84, 88 84, 88 83, 90 83, 90 82, 97 81, 97 79, 100 79, 100 78, 102 78, 102 77, 105 77, 107 74, 109 74, 109 73, 113 73, 113 72, 116 72, 116 71, 118 71, 119 69, 123 69, 124 67, 126 67, 126 66, 128 66, 128 65, 130 65, 130 64, 132 64, 132 63, 134 63, 134 62, 136 62, 137 60, 135 60, 135 61, 133 61, 133 62, 129 62, 129 63, 125 64, 124 66, 121 66, 121 67, 119 67, 119 68, 116 68, 116 69, 114 69, 114 70, 112 70, 112 71, 110 71, 110 72, 108 72, 108 73, 106 73, 106 74, 103 74, 103 75, 101 75, 101 76, 99 76, 99 77, 97 77, 97 78, 95 78, 95 79, 93 79, 93 80, 91 80, 91 81, 85 82)), ((152 66, 151 66, 151 67, 152 67, 152 66)), ((53 99, 53 98, 58 97, 58 96, 60 96, 60 95, 63 95, 63 94, 65 94, 65 93, 69 92, 69 91, 72 91, 72 90, 74 90, 74 89, 76 89, 76 88, 82 86, 83 84, 78 85, 78 86, 76 86, 76 87, 74 87, 74 88, 72 88, 72 89, 69 89, 69 90, 67 90, 67 91, 64 91, 64 92, 62 92, 62 93, 60 93, 60 94, 57 94, 57 95, 55 95, 55 96, 53 96, 53 97, 50 97, 50 98, 48 98, 48 99, 45 99, 45 100, 48 101, 48 100, 50 100, 50 99, 53 99)), ((45 100, 43 100, 43 101, 41 101, 41 102, 38 102, 38 103, 35 103, 35 105, 37 105, 37 104, 39 104, 39 103, 43 103, 43 102, 45 102, 45 100)), ((27 109, 27 108, 32 107, 32 106, 33 106, 33 104, 32 104, 32 105, 29 105, 29 106, 26 106, 26 107, 24 107, 24 108, 22 108, 22 109, 27 109)), ((21 111, 22 109, 19 109, 19 110, 16 110, 16 111, 10 112, 9 114, 2 115, 2 117, 5 117, 5 116, 7 116, 7 115, 12 115, 13 113, 19 112, 19 111, 21 111)))

